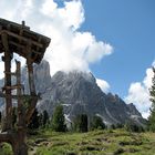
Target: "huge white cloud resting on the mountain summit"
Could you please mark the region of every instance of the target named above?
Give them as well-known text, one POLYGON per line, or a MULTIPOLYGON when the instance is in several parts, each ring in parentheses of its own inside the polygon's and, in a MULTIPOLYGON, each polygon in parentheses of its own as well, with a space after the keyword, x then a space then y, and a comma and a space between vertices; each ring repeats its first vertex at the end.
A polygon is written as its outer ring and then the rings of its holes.
POLYGON ((50 62, 51 75, 60 70, 89 71, 91 63, 113 51, 108 43, 97 41, 91 32, 79 30, 84 22, 81 0, 64 1, 62 8, 53 0, 1 0, 0 10, 1 18, 16 22, 25 20, 32 30, 51 38, 44 55, 50 62))

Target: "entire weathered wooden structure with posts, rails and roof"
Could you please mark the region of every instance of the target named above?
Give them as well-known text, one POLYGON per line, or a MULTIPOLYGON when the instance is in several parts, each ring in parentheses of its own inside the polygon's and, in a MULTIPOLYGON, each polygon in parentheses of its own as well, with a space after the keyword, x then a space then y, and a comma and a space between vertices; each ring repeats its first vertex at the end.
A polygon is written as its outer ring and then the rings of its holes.
POLYGON ((4 86, 0 97, 4 97, 6 101, 6 117, 2 133, 0 133, 0 143, 10 143, 14 155, 28 155, 27 125, 39 99, 34 86, 33 63, 41 62, 50 41, 49 38, 31 31, 24 21, 18 24, 0 19, 0 53, 3 54, 1 59, 4 62, 4 86), (22 93, 20 61, 16 60, 17 70, 14 73, 11 72, 13 53, 27 60, 30 94, 22 93), (16 85, 11 83, 12 76, 17 79, 16 85), (17 90, 17 94, 12 94, 12 90, 17 90), (23 103, 25 97, 30 101, 27 108, 23 103), (12 100, 17 100, 18 103, 17 128, 12 126, 12 100))

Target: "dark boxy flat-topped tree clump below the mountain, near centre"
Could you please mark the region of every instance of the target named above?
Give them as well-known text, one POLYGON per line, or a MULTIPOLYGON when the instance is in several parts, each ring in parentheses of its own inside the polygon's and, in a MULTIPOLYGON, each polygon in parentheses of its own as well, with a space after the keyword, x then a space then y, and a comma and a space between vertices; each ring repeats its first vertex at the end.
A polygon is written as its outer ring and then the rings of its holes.
POLYGON ((81 114, 78 115, 74 120, 74 130, 76 132, 87 132, 87 115, 81 114))

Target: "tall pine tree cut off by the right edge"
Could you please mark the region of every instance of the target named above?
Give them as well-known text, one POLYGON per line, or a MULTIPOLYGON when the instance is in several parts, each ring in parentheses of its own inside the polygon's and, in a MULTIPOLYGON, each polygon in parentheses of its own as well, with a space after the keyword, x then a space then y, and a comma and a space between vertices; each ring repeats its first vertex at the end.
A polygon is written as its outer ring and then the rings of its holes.
POLYGON ((151 94, 151 102, 152 102, 152 107, 151 107, 151 115, 148 117, 148 127, 151 131, 155 132, 155 68, 153 68, 154 76, 153 76, 153 85, 149 90, 151 94))

